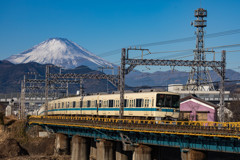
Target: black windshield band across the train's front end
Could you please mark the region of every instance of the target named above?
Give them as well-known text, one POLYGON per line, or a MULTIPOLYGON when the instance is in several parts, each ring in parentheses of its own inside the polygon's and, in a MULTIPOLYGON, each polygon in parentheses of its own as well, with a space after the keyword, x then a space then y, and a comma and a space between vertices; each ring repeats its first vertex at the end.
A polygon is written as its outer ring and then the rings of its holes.
POLYGON ((178 95, 157 94, 156 106, 179 108, 179 98, 178 95))

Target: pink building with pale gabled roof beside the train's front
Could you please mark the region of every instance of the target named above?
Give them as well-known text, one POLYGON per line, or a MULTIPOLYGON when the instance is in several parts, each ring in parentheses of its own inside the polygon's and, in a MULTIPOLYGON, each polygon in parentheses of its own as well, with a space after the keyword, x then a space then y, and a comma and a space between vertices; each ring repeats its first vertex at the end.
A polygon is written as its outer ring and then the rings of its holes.
POLYGON ((190 95, 180 100, 180 119, 190 121, 216 121, 218 106, 190 95))

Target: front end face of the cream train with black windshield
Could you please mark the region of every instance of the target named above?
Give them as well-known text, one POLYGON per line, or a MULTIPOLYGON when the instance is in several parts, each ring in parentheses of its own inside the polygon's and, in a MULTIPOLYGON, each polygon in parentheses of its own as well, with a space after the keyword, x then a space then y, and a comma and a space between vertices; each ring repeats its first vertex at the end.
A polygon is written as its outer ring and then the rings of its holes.
POLYGON ((177 120, 179 118, 180 96, 169 92, 156 93, 155 120, 177 120))

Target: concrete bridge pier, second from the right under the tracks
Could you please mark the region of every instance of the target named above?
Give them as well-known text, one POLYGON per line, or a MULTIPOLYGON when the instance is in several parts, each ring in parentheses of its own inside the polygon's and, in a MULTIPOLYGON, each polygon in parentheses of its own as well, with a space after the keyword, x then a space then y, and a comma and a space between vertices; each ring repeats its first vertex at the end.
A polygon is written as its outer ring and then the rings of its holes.
POLYGON ((133 160, 151 160, 152 148, 145 145, 136 147, 133 151, 133 160))

